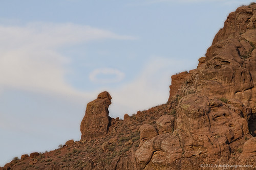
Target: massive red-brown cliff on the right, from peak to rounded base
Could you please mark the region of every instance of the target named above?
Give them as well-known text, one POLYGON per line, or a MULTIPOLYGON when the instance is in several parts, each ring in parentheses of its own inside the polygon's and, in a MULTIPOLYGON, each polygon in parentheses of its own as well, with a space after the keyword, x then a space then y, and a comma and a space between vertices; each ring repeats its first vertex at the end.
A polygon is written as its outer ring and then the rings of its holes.
POLYGON ((141 169, 207 162, 255 166, 256 152, 249 149, 256 144, 255 8, 232 12, 198 68, 172 76, 168 103, 176 105, 176 126, 136 151, 141 169))

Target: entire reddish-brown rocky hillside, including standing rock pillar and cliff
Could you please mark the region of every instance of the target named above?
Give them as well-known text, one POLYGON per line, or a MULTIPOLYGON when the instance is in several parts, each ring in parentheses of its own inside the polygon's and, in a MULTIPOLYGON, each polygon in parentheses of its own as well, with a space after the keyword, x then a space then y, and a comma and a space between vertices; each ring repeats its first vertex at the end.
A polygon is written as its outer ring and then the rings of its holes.
POLYGON ((255 21, 255 4, 230 13, 197 69, 172 76, 166 104, 121 120, 109 117, 111 96, 102 92, 87 105, 80 141, 2 169, 254 169, 255 21))

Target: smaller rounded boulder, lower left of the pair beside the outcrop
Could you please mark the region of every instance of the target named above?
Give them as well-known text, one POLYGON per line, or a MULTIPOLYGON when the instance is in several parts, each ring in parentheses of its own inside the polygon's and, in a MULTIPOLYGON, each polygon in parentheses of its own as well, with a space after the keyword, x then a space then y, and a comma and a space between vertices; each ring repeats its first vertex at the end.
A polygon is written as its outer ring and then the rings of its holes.
POLYGON ((144 124, 140 127, 140 146, 148 139, 158 135, 157 130, 154 126, 144 124))

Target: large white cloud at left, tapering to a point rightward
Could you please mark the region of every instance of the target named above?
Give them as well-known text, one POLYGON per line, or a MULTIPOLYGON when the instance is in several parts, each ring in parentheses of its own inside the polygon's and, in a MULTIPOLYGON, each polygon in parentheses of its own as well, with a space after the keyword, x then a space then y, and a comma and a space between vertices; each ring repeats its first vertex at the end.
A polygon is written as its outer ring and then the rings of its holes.
MULTIPOLYGON (((70 60, 58 48, 103 39, 135 39, 73 23, 33 22, 23 27, 0 26, 0 89, 89 95, 65 80, 70 60)), ((116 72, 120 79, 120 73, 116 72)))

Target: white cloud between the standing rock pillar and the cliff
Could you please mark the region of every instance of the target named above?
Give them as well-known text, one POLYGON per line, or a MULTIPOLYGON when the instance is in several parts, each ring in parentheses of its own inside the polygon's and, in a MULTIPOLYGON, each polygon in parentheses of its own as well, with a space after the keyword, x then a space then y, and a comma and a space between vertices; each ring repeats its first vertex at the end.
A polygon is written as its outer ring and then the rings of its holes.
POLYGON ((113 103, 110 107, 110 116, 122 117, 125 113, 132 114, 166 103, 170 77, 177 71, 195 68, 196 62, 152 57, 136 79, 120 88, 109 90, 113 103))

